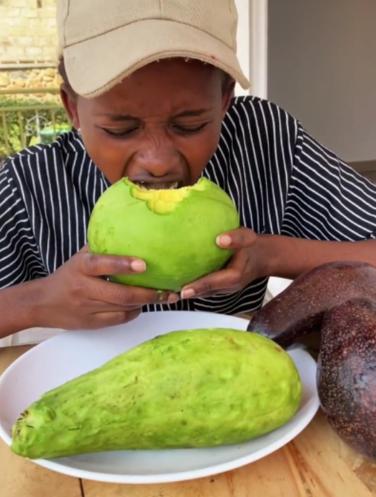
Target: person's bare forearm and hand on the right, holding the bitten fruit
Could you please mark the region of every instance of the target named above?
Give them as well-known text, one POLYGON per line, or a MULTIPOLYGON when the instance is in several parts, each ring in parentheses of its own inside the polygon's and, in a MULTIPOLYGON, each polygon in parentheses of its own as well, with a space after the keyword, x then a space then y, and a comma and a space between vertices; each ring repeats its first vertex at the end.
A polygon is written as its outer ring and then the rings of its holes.
POLYGON ((294 280, 321 264, 335 261, 367 262, 376 267, 376 240, 323 242, 281 235, 256 235, 248 228, 223 233, 223 249, 233 249, 227 266, 182 289, 182 298, 205 298, 235 293, 262 277, 294 280))

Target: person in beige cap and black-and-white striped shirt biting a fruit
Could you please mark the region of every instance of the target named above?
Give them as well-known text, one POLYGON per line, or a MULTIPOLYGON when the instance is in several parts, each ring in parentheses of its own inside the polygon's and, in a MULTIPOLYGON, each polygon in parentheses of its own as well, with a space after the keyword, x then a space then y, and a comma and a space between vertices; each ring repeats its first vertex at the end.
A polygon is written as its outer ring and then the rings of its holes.
POLYGON ((234 81, 249 86, 236 22, 232 0, 57 1, 62 99, 77 132, 23 150, 0 172, 1 336, 95 329, 141 310, 254 311, 270 275, 376 264, 376 186, 277 106, 232 98, 234 81), (169 188, 201 175, 241 218, 217 240, 235 250, 227 267, 162 301, 106 281, 146 266, 88 252, 102 192, 125 176, 169 188))

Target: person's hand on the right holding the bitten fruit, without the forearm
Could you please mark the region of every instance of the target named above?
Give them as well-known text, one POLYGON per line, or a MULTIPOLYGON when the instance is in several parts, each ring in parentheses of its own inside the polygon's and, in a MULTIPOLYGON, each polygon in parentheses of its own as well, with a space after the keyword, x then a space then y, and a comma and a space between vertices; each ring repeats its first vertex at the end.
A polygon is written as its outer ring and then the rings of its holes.
POLYGON ((222 249, 234 250, 225 269, 209 274, 182 289, 181 297, 205 298, 218 293, 235 293, 263 276, 263 262, 252 230, 239 228, 220 235, 216 242, 222 249))

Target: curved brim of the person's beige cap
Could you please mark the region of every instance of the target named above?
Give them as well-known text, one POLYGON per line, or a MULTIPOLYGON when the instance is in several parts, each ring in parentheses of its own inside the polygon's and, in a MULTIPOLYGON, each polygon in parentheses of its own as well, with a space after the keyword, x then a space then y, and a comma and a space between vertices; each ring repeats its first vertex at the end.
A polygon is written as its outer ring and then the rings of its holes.
POLYGON ((234 50, 203 31, 173 21, 138 21, 64 48, 69 83, 87 98, 101 95, 135 70, 169 57, 205 61, 227 72, 245 90, 250 88, 234 50))

